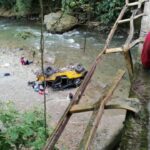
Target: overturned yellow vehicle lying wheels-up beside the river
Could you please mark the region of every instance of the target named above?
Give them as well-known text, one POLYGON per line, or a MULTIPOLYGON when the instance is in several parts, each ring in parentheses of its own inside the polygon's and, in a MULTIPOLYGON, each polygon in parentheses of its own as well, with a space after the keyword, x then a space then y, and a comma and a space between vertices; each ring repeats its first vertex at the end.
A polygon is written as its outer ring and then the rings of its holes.
POLYGON ((44 69, 44 75, 42 73, 37 74, 37 81, 44 82, 45 80, 46 84, 53 89, 65 89, 78 87, 86 74, 87 71, 81 64, 70 65, 61 69, 48 66, 44 69))

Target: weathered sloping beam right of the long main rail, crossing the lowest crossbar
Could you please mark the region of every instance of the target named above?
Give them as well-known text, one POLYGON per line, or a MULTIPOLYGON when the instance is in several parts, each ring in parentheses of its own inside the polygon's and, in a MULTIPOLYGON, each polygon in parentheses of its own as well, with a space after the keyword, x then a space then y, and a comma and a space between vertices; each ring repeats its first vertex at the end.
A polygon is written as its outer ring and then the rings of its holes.
POLYGON ((105 107, 106 103, 111 99, 111 96, 112 96, 114 90, 117 88, 117 86, 124 74, 125 74, 125 71, 119 70, 117 72, 117 76, 113 80, 112 86, 110 87, 110 89, 108 90, 106 95, 103 96, 103 99, 100 98, 99 109, 95 110, 90 118, 88 126, 85 130, 84 136, 80 142, 80 146, 79 146, 80 150, 88 150, 90 148, 89 146, 93 140, 96 129, 101 120, 101 117, 102 117, 102 114, 104 111, 104 107, 105 107))

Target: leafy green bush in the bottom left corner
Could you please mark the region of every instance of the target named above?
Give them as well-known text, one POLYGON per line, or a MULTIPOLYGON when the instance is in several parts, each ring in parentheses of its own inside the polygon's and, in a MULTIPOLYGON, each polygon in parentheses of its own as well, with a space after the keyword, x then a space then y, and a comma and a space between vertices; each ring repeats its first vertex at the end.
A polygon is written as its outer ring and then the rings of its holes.
POLYGON ((0 129, 1 150, 22 147, 40 150, 46 141, 44 115, 38 109, 19 113, 11 102, 1 103, 0 129))

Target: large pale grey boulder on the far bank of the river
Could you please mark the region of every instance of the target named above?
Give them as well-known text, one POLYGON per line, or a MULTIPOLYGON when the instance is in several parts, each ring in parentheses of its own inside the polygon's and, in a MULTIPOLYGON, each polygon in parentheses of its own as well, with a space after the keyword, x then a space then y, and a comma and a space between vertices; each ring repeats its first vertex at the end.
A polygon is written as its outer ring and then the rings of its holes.
POLYGON ((63 33, 77 25, 78 20, 68 14, 56 12, 45 15, 44 23, 46 24, 46 28, 49 32, 63 33))

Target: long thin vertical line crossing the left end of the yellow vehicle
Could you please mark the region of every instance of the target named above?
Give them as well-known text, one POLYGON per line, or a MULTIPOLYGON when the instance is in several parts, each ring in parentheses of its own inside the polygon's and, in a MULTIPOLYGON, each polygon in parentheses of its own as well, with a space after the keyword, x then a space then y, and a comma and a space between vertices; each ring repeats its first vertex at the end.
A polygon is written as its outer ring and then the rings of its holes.
POLYGON ((40 8, 41 8, 41 38, 40 38, 40 52, 41 52, 41 70, 44 76, 44 128, 45 128, 45 139, 47 136, 47 119, 46 119, 46 81, 45 81, 45 74, 44 74, 44 35, 43 35, 43 24, 44 24, 44 12, 43 12, 43 0, 39 0, 40 8))

